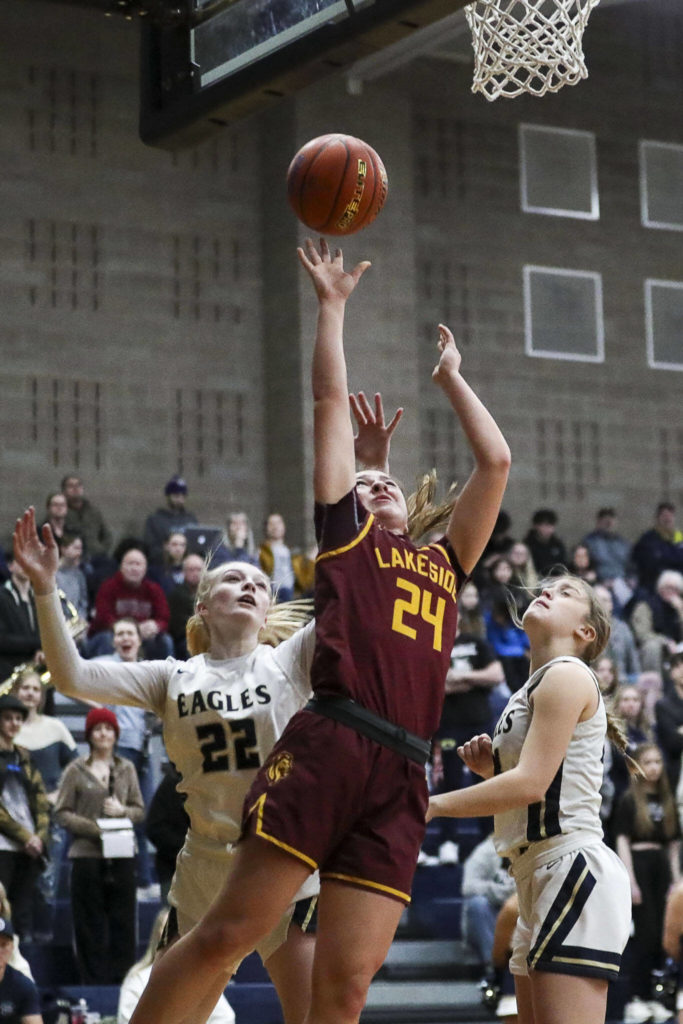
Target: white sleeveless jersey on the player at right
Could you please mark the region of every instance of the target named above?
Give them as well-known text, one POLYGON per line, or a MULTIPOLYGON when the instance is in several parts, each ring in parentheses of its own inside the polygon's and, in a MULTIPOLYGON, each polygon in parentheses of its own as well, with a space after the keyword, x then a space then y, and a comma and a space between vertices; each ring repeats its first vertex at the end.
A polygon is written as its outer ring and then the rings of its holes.
POLYGON ((494 842, 502 857, 510 857, 520 847, 555 836, 581 831, 602 838, 600 786, 607 716, 598 681, 585 662, 568 655, 554 657, 512 694, 494 732, 495 772, 498 775, 517 765, 533 714, 533 693, 548 669, 561 662, 580 665, 590 673, 598 692, 598 708, 591 718, 577 724, 543 800, 495 816, 494 842))

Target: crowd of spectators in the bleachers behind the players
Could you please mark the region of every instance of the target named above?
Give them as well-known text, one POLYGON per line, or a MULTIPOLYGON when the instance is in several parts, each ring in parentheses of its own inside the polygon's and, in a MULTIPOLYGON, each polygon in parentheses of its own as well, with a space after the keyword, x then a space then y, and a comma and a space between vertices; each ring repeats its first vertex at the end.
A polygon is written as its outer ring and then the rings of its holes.
MULTIPOLYGON (((201 526, 186 507, 187 484, 182 477, 171 477, 164 496, 165 504, 140 523, 139 535, 122 538, 114 547, 112 530, 86 497, 79 476, 65 477, 60 489, 48 495, 42 519, 59 547, 62 608, 86 657, 186 658, 184 627, 205 560, 212 565, 228 560, 260 564, 272 579, 281 601, 311 594, 314 551, 292 551, 279 512, 268 515, 259 544, 242 510, 228 515, 222 538, 219 527, 201 526)), ((121 982, 134 958, 134 943, 128 953, 121 953, 125 943, 117 944, 112 934, 114 946, 108 952, 93 957, 84 949, 92 947, 93 931, 101 941, 110 931, 119 939, 130 934, 136 888, 138 898, 150 891, 156 894, 159 884, 163 895, 167 893, 186 825, 184 811, 177 804, 172 772, 157 794, 152 791, 145 767, 155 723, 144 712, 94 709, 92 721, 97 728, 90 722, 88 748, 79 757, 74 737, 54 717, 42 678, 47 667, 30 583, 13 560, 10 545, 4 555, 0 558, 0 683, 14 675, 11 692, 5 687, 0 697, 0 883, 12 904, 13 921, 8 926, 11 936, 0 928, 0 946, 3 934, 14 944, 17 939, 25 943, 50 940, 55 880, 70 838, 82 980, 99 979, 105 965, 108 980, 121 982), (108 776, 93 802, 90 776, 97 777, 98 763, 106 760, 97 753, 97 743, 108 723, 116 733, 109 738, 118 742, 116 770, 112 769, 111 779, 108 776), (110 868, 102 867, 96 823, 114 810, 117 814, 125 811, 137 825, 137 856, 121 879, 113 879, 110 868), (141 823, 145 811, 148 834, 157 845, 156 870, 141 823), (112 886, 119 896, 127 894, 126 901, 118 901, 120 911, 126 902, 126 921, 116 914, 112 918, 105 895, 112 886)), ((631 994, 637 1015, 637 1000, 646 1000, 645 974, 663 956, 666 888, 649 885, 647 880, 651 874, 658 882, 666 877, 676 883, 680 866, 676 798, 678 793, 683 802, 683 787, 678 787, 683 753, 683 534, 676 525, 672 503, 663 502, 656 508, 651 527, 633 543, 618 532, 611 508, 600 509, 593 528, 572 546, 558 536, 553 509, 535 511, 522 540, 515 538, 510 517, 501 512, 486 551, 460 597, 459 631, 433 744, 430 784, 433 790, 447 791, 474 781, 458 758, 457 748, 470 735, 490 729, 510 693, 523 685, 528 643, 520 628, 521 615, 539 581, 563 568, 590 583, 610 615, 609 645, 594 669, 605 700, 622 720, 631 755, 642 763, 643 758, 660 761, 659 776, 645 785, 634 781, 618 752, 609 746, 605 751, 605 834, 632 876, 637 951, 632 959, 640 970, 632 971, 631 994), (646 870, 643 865, 648 858, 640 856, 638 849, 643 843, 666 852, 669 874, 663 873, 659 861, 653 873, 651 863, 646 870), (644 904, 646 912, 639 909, 644 904)), ((457 819, 439 819, 438 827, 428 833, 422 863, 465 859, 470 851, 462 844, 459 827, 457 819)), ((508 892, 485 831, 470 840, 470 849, 477 838, 484 845, 466 879, 474 878, 479 862, 493 865, 495 878, 485 884, 472 882, 471 892, 465 893, 465 925, 467 934, 477 937, 474 941, 483 957, 493 941, 492 914, 508 892), (477 920, 484 906, 487 919, 477 920)))

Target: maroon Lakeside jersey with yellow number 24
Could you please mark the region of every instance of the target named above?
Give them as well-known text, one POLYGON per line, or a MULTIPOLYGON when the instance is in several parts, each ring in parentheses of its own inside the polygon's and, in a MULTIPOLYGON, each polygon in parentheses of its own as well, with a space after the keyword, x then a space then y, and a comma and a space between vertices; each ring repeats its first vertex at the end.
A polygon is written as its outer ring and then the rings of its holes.
POLYGON ((379 525, 355 488, 316 506, 319 695, 351 697, 427 739, 438 727, 466 575, 445 540, 416 547, 379 525))

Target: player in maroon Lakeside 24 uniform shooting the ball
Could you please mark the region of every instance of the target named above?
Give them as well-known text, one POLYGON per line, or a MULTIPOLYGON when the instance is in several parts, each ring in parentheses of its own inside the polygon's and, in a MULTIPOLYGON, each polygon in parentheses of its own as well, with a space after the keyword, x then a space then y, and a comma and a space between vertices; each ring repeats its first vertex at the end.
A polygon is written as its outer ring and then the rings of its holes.
POLYGON ((460 420, 474 469, 446 511, 441 540, 412 540, 398 484, 381 471, 355 473, 343 324, 370 263, 345 270, 341 250, 332 255, 325 241, 316 248, 307 240, 298 255, 318 300, 313 698, 291 719, 247 796, 229 880, 158 962, 131 1024, 195 1022, 195 1008, 218 998, 233 966, 316 867, 306 1024, 358 1020, 410 902, 457 596, 490 536, 508 477, 505 438, 462 377, 441 326, 433 379, 460 420))

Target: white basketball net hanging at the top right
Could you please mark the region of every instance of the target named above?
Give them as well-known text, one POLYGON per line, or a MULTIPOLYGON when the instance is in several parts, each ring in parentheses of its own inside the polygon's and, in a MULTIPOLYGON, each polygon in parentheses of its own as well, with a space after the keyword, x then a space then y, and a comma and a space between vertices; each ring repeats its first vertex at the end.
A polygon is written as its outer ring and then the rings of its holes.
POLYGON ((543 96, 588 77, 582 38, 599 0, 474 0, 472 92, 486 99, 543 96))

